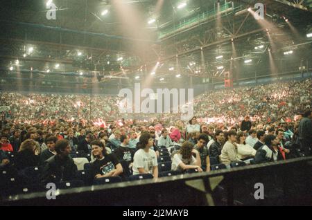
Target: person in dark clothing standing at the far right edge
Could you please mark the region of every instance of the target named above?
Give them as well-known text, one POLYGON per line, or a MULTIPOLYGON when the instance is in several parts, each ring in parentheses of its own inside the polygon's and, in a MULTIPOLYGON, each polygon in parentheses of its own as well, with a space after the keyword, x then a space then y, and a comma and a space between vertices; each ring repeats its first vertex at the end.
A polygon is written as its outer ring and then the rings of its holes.
POLYGON ((299 133, 299 143, 300 148, 306 154, 306 156, 311 154, 312 146, 312 111, 307 110, 304 112, 303 118, 300 121, 298 133, 299 133))

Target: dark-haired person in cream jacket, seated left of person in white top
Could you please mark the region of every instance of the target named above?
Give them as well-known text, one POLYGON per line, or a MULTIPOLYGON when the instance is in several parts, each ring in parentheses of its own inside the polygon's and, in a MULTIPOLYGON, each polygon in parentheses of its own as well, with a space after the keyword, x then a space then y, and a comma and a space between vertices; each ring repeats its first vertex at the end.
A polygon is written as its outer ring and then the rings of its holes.
POLYGON ((235 143, 236 132, 235 131, 227 132, 226 140, 227 142, 225 143, 223 149, 221 150, 220 161, 221 163, 224 163, 225 165, 227 165, 227 167, 229 167, 230 163, 241 161, 238 157, 237 145, 235 143))

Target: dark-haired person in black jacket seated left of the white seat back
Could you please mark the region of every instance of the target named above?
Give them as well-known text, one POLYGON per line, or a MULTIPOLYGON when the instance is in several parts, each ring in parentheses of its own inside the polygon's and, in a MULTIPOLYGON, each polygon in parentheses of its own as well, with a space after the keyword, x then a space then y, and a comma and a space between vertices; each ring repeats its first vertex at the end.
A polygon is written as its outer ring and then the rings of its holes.
POLYGON ((66 139, 58 140, 55 143, 56 155, 44 163, 44 169, 40 181, 42 183, 58 183, 71 181, 76 178, 77 166, 69 156, 71 146, 66 139))

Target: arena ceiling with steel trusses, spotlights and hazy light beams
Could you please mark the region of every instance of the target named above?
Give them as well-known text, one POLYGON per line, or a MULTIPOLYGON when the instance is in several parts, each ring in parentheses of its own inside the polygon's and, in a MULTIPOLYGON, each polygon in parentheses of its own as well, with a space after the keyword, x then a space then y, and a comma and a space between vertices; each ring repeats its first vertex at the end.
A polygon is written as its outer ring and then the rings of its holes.
POLYGON ((28 72, 41 80, 55 74, 85 84, 83 78, 90 76, 101 82, 135 81, 156 68, 153 77, 164 78, 162 83, 177 74, 223 80, 223 69, 233 70, 234 78, 249 77, 254 69, 268 73, 268 50, 279 71, 298 70, 302 59, 311 63, 311 38, 306 37, 312 32, 311 0, 53 0, 56 19, 46 18, 47 2, 1 2, 5 77, 19 68, 26 77, 28 72), (247 11, 257 2, 266 6, 267 24, 247 11), (296 56, 289 59, 285 51, 296 56), (245 64, 246 59, 252 62, 245 64))

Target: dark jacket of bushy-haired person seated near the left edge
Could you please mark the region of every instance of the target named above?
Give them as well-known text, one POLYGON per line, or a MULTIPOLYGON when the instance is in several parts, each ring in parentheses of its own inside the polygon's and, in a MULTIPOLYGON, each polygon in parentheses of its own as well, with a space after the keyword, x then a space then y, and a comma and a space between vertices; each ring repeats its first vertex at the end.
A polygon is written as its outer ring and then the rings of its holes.
POLYGON ((35 167, 39 163, 39 156, 28 150, 23 150, 17 153, 15 168, 24 169, 26 167, 35 167))

